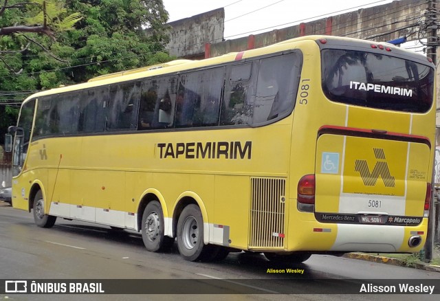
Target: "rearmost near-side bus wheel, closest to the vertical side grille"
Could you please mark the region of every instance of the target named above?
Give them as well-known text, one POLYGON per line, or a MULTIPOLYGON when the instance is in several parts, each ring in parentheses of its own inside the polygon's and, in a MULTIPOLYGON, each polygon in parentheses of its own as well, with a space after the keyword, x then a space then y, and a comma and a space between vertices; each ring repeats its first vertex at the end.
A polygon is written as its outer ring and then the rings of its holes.
POLYGON ((203 217, 195 204, 187 205, 177 221, 177 247, 180 255, 188 261, 210 258, 210 247, 203 243, 203 217), (204 251, 204 252, 203 252, 204 251))

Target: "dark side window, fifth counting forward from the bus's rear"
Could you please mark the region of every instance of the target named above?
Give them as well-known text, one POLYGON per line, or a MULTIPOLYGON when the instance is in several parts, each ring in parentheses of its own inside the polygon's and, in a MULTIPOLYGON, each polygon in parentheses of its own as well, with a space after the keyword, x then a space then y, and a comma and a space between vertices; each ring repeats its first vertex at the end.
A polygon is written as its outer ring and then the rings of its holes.
POLYGON ((139 98, 140 83, 111 87, 106 129, 108 131, 136 129, 139 98))

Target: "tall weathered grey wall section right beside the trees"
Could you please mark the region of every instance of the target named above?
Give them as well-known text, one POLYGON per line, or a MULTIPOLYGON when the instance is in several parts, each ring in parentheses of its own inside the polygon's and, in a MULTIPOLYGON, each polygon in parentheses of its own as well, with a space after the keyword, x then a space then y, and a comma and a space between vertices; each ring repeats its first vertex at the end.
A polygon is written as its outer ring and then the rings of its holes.
POLYGON ((223 41, 224 23, 224 8, 168 23, 170 43, 166 49, 179 58, 203 58, 206 43, 223 41))

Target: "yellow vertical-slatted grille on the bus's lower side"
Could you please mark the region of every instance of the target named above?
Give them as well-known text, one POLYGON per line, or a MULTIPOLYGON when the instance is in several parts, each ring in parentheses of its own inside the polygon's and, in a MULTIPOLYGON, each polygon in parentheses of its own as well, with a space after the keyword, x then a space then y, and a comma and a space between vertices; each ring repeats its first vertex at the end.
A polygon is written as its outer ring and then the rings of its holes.
POLYGON ((285 186, 285 179, 251 178, 250 248, 284 248, 285 186))

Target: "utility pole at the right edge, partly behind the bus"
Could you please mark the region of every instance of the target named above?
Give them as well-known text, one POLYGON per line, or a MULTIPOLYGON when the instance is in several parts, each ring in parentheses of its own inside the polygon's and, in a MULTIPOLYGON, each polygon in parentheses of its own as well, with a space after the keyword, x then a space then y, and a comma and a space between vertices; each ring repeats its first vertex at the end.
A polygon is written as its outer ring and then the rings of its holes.
MULTIPOLYGON (((437 0, 427 1, 428 9, 425 12, 427 56, 428 58, 431 58, 432 63, 437 66, 437 0)), ((434 89, 437 89, 437 87, 434 87, 434 89)), ((437 105, 437 100, 434 101, 437 105)), ((434 145, 436 144, 434 143, 434 145)), ((433 160, 435 164, 435 156, 433 160)), ((435 165, 433 165, 432 168, 434 168, 434 166, 435 165)), ((425 261, 427 262, 430 262, 432 260, 432 250, 434 249, 435 219, 438 215, 436 214, 434 207, 434 172, 432 172, 431 190, 430 210, 428 216, 428 233, 426 234, 426 243, 424 248, 424 257, 425 261)))

